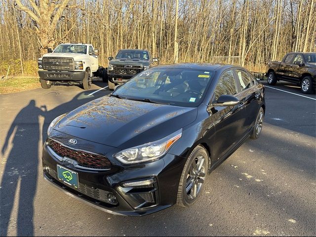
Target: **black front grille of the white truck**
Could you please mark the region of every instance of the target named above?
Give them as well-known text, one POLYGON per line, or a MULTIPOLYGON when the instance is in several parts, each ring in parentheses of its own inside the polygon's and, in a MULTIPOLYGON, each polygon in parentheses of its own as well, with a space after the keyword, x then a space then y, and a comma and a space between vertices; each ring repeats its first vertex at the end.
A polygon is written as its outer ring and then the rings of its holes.
POLYGON ((74 71, 75 62, 73 58, 43 57, 42 65, 48 71, 74 71))

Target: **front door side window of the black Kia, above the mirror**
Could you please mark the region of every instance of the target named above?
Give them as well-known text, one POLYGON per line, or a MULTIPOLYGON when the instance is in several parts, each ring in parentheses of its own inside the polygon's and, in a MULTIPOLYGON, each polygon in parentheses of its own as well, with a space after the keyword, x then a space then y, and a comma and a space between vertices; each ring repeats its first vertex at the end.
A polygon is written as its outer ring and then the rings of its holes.
POLYGON ((215 89, 215 100, 221 95, 235 95, 237 94, 237 86, 234 78, 233 70, 223 73, 218 81, 215 89))

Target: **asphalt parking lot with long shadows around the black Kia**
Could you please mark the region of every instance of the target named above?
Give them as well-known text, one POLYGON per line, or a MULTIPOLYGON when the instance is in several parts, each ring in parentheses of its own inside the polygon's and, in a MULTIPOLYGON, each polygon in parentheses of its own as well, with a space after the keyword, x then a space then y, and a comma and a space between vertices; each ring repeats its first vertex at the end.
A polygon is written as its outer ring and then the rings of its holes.
POLYGON ((109 94, 99 90, 105 86, 0 95, 0 236, 316 235, 315 94, 286 82, 266 87, 261 137, 247 140, 207 176, 199 201, 136 218, 83 204, 42 177, 49 123, 109 94))

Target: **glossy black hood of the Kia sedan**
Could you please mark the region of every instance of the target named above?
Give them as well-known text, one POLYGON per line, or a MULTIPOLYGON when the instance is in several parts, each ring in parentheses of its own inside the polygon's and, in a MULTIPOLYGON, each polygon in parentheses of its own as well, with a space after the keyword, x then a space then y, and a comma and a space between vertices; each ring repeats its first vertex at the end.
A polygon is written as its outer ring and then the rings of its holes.
POLYGON ((62 118, 55 130, 126 149, 157 141, 197 118, 197 108, 102 97, 62 118))

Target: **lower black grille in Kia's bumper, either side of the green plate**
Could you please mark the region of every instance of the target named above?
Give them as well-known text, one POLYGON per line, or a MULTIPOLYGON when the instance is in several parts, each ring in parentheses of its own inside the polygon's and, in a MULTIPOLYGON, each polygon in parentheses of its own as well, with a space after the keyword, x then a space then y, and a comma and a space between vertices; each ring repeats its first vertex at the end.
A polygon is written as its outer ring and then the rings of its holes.
MULTIPOLYGON (((55 180, 58 180, 57 172, 55 170, 49 169, 48 173, 52 178, 54 178, 55 180)), ((67 184, 65 184, 65 185, 67 185, 67 184)), ((69 185, 67 185, 67 186, 69 186, 69 185)), ((69 186, 69 187, 71 187, 71 186, 69 186)), ((92 197, 94 199, 104 201, 104 202, 107 202, 110 204, 114 204, 113 202, 109 201, 109 198, 108 198, 108 195, 112 194, 111 192, 107 192, 107 191, 104 191, 101 189, 96 189, 94 187, 90 187, 90 186, 87 186, 87 185, 82 184, 82 183, 79 183, 78 189, 75 189, 75 190, 83 195, 92 197)))

